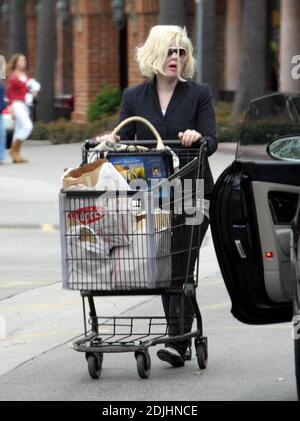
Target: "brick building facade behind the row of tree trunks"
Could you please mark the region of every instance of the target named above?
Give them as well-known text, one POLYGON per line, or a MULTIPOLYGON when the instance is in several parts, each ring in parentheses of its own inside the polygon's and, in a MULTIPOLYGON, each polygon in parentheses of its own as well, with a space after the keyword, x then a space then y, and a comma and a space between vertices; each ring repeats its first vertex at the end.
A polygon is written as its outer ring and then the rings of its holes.
MULTIPOLYGON (((243 1, 216 2, 215 65, 221 99, 231 100, 238 87, 243 1)), ((27 55, 32 75, 36 68, 37 6, 38 0, 27 0, 27 55)), ((9 0, 0 0, 0 7, 0 54, 8 58, 9 0)), ((187 29, 195 40, 196 1, 187 0, 187 7, 187 29)), ((291 78, 295 66, 292 58, 300 55, 300 1, 269 0, 268 9, 268 89, 300 90, 299 80, 291 78)), ((59 0, 56 13, 55 91, 57 95, 74 95, 72 118, 82 122, 101 84, 124 89, 143 80, 135 47, 158 23, 159 0, 59 0)))

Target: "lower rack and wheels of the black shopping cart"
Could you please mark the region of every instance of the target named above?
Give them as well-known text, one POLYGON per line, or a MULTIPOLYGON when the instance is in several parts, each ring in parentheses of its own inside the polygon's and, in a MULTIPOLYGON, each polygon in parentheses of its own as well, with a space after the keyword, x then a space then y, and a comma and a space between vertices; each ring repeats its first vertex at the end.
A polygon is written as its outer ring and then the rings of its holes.
MULTIPOLYGON (((195 349, 200 369, 207 366, 207 338, 202 336, 201 314, 196 311, 197 330, 176 338, 168 336, 168 324, 165 317, 97 317, 93 294, 83 293, 84 315, 85 300, 90 306, 90 331, 73 343, 75 351, 84 352, 88 362, 88 371, 93 379, 100 377, 104 353, 133 352, 136 358, 138 374, 142 379, 149 377, 151 359, 148 348, 159 344, 168 344, 176 340, 195 338, 195 349)), ((197 306, 197 304, 196 304, 197 306)))

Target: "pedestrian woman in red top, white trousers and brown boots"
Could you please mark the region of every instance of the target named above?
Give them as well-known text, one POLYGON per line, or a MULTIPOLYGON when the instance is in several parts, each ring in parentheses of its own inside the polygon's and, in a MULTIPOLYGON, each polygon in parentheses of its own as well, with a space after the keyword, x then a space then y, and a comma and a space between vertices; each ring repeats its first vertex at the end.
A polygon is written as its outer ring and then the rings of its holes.
POLYGON ((29 102, 32 95, 40 90, 40 84, 30 79, 26 74, 27 60, 23 54, 14 54, 7 65, 8 80, 6 96, 15 117, 15 130, 13 134, 10 156, 14 163, 25 163, 20 155, 20 149, 32 132, 29 102))

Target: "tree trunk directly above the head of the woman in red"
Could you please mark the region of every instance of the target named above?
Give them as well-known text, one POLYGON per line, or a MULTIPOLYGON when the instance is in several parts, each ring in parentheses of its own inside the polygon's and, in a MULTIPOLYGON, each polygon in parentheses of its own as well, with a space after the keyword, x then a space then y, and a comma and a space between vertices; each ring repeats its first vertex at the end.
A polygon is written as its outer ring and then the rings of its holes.
POLYGON ((27 0, 10 0, 9 3, 9 53, 27 54, 26 34, 27 0))

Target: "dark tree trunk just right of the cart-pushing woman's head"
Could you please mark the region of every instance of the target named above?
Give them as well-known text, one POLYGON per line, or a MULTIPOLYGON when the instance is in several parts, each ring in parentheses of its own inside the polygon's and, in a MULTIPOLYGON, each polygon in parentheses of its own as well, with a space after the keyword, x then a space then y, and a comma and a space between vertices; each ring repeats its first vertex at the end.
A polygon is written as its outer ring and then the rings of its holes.
POLYGON ((214 99, 218 97, 218 49, 217 49, 216 0, 202 0, 196 9, 196 56, 198 82, 208 83, 214 99))

